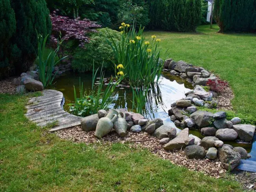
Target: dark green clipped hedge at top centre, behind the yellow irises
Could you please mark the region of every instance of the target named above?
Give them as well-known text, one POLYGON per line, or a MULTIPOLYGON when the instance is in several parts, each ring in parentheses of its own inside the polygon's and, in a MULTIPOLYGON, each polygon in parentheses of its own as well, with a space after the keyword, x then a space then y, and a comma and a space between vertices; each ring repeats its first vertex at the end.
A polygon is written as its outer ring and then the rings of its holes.
POLYGON ((201 0, 149 0, 149 28, 195 31, 201 19, 201 0))

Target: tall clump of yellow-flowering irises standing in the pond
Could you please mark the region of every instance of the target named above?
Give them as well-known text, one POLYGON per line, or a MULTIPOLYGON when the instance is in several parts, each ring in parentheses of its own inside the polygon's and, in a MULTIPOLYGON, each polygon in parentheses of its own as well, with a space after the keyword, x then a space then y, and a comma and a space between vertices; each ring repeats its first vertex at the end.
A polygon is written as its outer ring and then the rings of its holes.
POLYGON ((151 41, 145 41, 143 36, 144 28, 139 27, 139 30, 135 30, 135 24, 130 28, 129 24, 124 22, 119 27, 121 30, 121 40, 114 41, 111 38, 109 44, 115 54, 115 72, 117 77, 126 75, 124 81, 132 86, 147 85, 148 83, 154 83, 156 76, 156 82, 160 78, 161 70, 163 68, 163 61, 160 59, 160 52, 158 50, 158 44, 160 39, 156 39, 153 35, 151 41), (117 72, 117 66, 123 66, 117 72), (121 75, 120 75, 121 74, 121 75))

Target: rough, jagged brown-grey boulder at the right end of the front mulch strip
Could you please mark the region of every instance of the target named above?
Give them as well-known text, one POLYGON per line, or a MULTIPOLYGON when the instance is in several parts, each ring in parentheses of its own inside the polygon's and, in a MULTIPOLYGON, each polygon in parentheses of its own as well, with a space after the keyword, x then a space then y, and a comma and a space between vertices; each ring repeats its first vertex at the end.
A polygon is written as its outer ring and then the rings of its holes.
POLYGON ((241 155, 228 146, 223 146, 218 150, 219 160, 226 170, 233 170, 240 164, 241 155))

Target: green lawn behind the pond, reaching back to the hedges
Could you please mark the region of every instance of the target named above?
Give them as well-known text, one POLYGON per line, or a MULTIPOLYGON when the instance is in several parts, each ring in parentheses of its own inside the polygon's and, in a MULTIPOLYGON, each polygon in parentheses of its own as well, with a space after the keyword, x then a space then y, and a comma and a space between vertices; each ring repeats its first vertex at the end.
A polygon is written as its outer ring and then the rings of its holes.
POLYGON ((199 26, 197 33, 148 31, 145 35, 161 39, 162 58, 202 66, 230 82, 234 110, 255 118, 256 34, 220 34, 218 30, 217 25, 212 30, 199 26))

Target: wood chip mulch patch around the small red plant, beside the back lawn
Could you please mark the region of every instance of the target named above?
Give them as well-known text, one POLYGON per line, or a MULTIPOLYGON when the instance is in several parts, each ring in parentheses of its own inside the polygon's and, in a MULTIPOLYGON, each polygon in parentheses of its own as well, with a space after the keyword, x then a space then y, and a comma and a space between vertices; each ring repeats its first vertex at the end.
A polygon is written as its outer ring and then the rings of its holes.
MULTIPOLYGON (((228 82, 226 82, 228 83, 228 82)), ((217 106, 217 109, 219 110, 233 110, 231 100, 234 99, 234 93, 228 84, 225 89, 223 89, 219 95, 217 96, 217 100, 219 101, 219 104, 217 106)))

